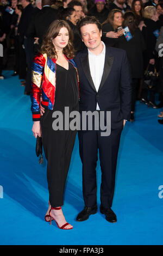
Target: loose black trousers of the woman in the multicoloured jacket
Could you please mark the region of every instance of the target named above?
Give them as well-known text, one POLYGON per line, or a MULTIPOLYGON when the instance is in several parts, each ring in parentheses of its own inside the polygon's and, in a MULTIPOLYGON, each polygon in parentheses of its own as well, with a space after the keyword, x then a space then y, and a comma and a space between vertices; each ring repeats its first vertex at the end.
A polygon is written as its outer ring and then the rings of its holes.
POLYGON ((45 109, 41 117, 42 144, 47 159, 49 202, 52 207, 64 204, 64 190, 77 131, 54 131, 53 111, 45 109))

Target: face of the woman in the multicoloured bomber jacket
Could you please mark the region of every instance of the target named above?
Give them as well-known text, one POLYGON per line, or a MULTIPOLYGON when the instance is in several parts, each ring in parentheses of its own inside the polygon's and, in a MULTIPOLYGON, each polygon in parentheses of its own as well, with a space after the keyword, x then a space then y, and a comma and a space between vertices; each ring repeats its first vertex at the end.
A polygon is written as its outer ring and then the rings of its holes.
POLYGON ((59 34, 56 36, 56 38, 52 39, 53 45, 55 46, 55 50, 63 50, 63 48, 66 47, 69 40, 69 33, 68 29, 65 27, 62 27, 59 31, 59 34))

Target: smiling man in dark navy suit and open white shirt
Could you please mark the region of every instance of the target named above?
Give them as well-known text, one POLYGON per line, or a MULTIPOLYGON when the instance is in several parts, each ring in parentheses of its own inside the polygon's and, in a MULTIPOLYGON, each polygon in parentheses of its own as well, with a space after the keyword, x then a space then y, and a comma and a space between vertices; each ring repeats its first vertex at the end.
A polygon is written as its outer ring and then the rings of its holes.
POLYGON ((77 221, 85 221, 97 212, 97 153, 102 170, 100 211, 106 220, 116 222, 111 210, 121 132, 130 119, 131 76, 126 51, 106 47, 101 41, 101 24, 95 17, 79 22, 79 33, 87 49, 74 58, 79 74, 80 113, 111 111, 111 134, 101 130, 78 131, 79 153, 83 163, 83 197, 85 208, 77 221))

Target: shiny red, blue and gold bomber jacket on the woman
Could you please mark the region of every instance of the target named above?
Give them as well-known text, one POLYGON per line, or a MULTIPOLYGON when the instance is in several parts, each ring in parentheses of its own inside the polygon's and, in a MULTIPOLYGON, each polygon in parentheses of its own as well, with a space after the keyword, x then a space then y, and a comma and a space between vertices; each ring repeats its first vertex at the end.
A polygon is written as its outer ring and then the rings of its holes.
MULTIPOLYGON (((66 56, 65 56, 66 57, 66 56)), ((66 58, 67 59, 67 58, 66 58)), ((73 59, 67 59, 77 71, 73 59)), ((78 75, 78 71, 77 71, 78 75)), ((38 53, 32 64, 32 90, 30 99, 32 101, 33 121, 40 120, 40 97, 41 105, 44 108, 53 110, 55 102, 55 82, 56 82, 56 59, 50 59, 47 54, 38 53)), ((79 89, 79 78, 78 78, 79 89)))

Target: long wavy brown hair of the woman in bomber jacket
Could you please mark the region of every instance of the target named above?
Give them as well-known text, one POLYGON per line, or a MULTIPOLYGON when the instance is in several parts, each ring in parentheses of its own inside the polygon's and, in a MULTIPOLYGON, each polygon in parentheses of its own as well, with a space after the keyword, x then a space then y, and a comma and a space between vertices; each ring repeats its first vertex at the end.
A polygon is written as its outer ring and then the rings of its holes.
POLYGON ((73 32, 68 25, 68 23, 64 20, 55 20, 51 23, 51 25, 48 28, 47 33, 45 34, 41 46, 41 53, 46 53, 49 58, 55 58, 57 59, 57 52, 55 50, 55 47, 53 45, 52 39, 56 38, 60 32, 60 29, 62 27, 67 28, 69 40, 66 47, 63 49, 63 53, 66 55, 68 59, 72 59, 74 57, 74 48, 73 48, 73 32))

